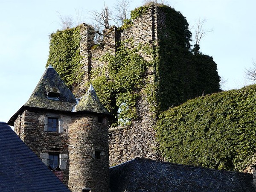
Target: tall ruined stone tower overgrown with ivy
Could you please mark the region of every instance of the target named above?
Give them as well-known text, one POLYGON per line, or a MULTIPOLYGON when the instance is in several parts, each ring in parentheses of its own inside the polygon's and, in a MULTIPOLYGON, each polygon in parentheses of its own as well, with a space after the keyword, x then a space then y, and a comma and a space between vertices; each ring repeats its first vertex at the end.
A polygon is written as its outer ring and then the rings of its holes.
MULTIPOLYGON (((71 39, 75 39, 73 42, 77 45, 74 52, 79 52, 81 56, 80 63, 77 62, 75 65, 78 66, 79 72, 83 73, 82 78, 73 84, 73 93, 83 96, 90 82, 96 82, 96 93, 102 99, 102 103, 105 102, 104 105, 112 110, 111 114, 118 117, 119 111, 122 112, 119 109, 124 106, 126 109, 132 109, 132 113, 125 114, 129 124, 114 122, 115 125, 112 124, 109 129, 110 165, 135 157, 160 160, 154 129, 157 116, 187 99, 219 90, 220 79, 212 57, 191 51, 191 32, 186 17, 172 7, 154 3, 135 9, 131 15, 129 23, 125 23, 121 28, 112 26, 103 30, 103 41, 100 44, 93 42, 94 30, 85 23, 74 28, 79 38, 70 36, 71 39), (134 52, 136 55, 128 58, 122 51, 129 52, 128 56, 134 52), (116 57, 116 60, 111 63, 113 57, 116 57), (140 63, 143 69, 139 69, 143 72, 130 75, 140 67, 139 62, 130 62, 134 58, 136 61, 143 60, 144 63, 140 63), (126 63, 123 64, 123 61, 126 63), (123 70, 130 63, 134 64, 129 68, 131 70, 123 70), (109 67, 111 65, 112 68, 109 67), (120 66, 124 67, 117 75, 119 79, 111 77, 111 74, 121 68, 120 66), (134 76, 137 79, 134 80, 134 76), (135 84, 133 80, 140 83, 135 84), (120 81, 126 87, 121 83, 115 84, 120 81), (126 89, 130 84, 135 85, 130 90, 126 89), (126 100, 122 99, 125 96, 126 100), (130 118, 129 115, 134 113, 136 115, 130 118)), ((59 39, 61 33, 56 32, 55 37, 59 39)), ((61 55, 62 51, 56 50, 61 47, 56 43, 50 45, 53 47, 51 49, 50 46, 47 63, 58 66, 62 60, 56 60, 56 55, 61 55)), ((67 65, 72 68, 74 63, 67 65)))

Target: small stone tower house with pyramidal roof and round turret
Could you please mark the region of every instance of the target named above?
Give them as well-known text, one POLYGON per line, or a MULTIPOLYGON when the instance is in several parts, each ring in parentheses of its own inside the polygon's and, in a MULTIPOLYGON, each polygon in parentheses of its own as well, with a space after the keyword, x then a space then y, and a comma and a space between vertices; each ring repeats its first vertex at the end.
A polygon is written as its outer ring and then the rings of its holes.
POLYGON ((71 191, 106 192, 111 118, 92 85, 76 99, 49 66, 28 102, 8 123, 71 191))

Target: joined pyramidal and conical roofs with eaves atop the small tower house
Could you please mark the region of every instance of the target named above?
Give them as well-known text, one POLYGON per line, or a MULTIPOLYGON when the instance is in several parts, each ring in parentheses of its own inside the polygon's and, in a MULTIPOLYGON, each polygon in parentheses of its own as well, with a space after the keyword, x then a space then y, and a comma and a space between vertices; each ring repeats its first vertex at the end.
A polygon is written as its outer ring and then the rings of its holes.
POLYGON ((45 70, 28 102, 11 117, 8 124, 14 125, 17 116, 27 108, 33 110, 65 111, 69 113, 100 113, 111 119, 114 118, 101 104, 92 85, 90 85, 86 95, 80 99, 78 104, 71 90, 51 65, 45 70))

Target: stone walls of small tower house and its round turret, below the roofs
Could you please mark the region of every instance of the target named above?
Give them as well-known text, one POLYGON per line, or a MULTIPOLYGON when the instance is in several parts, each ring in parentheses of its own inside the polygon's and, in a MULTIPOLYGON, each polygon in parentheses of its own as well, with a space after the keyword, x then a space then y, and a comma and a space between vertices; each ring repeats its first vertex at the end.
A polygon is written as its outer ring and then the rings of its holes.
POLYGON ((72 192, 109 189, 108 117, 25 110, 15 121, 15 132, 49 166, 49 154, 59 154, 56 176, 72 192), (47 117, 58 118, 58 131, 45 130, 47 117), (96 152, 95 152, 96 151, 96 152), (95 153, 100 152, 99 159, 95 153))

